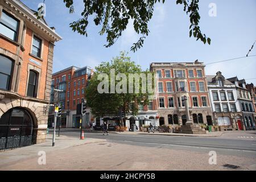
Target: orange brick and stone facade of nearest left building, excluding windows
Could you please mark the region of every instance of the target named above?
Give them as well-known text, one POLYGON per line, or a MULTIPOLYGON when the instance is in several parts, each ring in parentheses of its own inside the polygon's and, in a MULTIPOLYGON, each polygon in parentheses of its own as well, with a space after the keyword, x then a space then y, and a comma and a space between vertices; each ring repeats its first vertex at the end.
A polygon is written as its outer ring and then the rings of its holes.
POLYGON ((0 119, 15 108, 28 111, 34 122, 36 142, 44 142, 48 120, 45 106, 50 99, 53 47, 61 37, 43 19, 36 19, 34 11, 20 1, 1 1, 0 18, 3 11, 18 22, 18 28, 16 40, 0 32, 0 55, 13 61, 10 89, 0 89, 0 119), (39 57, 32 54, 34 36, 42 40, 39 57), (30 71, 36 72, 34 97, 27 96, 30 71))

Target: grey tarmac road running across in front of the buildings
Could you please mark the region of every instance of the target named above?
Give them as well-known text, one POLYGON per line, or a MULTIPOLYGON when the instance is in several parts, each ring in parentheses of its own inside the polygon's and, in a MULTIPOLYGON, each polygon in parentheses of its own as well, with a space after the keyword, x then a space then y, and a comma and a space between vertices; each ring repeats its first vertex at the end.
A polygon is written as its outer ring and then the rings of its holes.
MULTIPOLYGON (((51 131, 50 131, 51 132, 51 131)), ((57 131, 56 131, 57 133, 57 131)), ((61 129, 60 135, 80 137, 79 130, 61 129)), ((109 142, 174 150, 189 150, 197 152, 216 151, 217 154, 246 156, 256 159, 256 131, 224 133, 221 137, 180 137, 162 135, 144 135, 132 133, 109 133, 102 135, 99 132, 86 132, 85 138, 108 139, 109 142), (226 137, 225 137, 226 135, 226 137), (246 138, 242 138, 246 135, 246 138)))

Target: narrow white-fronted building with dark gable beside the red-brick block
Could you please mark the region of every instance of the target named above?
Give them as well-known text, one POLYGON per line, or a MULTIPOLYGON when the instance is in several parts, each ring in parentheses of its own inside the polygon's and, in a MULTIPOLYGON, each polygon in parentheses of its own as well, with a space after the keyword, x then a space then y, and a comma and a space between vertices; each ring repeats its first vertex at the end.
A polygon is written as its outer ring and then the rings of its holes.
POLYGON ((214 123, 221 130, 244 130, 236 84, 226 80, 220 71, 207 76, 207 81, 214 123))

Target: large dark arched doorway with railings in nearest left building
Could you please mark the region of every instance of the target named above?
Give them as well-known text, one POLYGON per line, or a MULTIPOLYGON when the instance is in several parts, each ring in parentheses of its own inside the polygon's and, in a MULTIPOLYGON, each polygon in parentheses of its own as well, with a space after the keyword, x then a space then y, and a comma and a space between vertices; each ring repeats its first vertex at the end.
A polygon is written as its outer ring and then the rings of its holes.
POLYGON ((34 120, 26 109, 10 109, 0 119, 0 150, 35 144, 35 128, 34 120))

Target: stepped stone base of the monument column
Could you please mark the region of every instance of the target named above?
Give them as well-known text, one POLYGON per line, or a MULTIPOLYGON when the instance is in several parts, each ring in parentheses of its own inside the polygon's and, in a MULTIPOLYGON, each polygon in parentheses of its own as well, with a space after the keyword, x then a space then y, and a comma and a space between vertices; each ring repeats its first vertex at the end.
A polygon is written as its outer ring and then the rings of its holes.
POLYGON ((182 125, 177 133, 183 134, 206 134, 207 131, 201 128, 199 125, 193 125, 192 121, 187 121, 186 125, 182 125))

